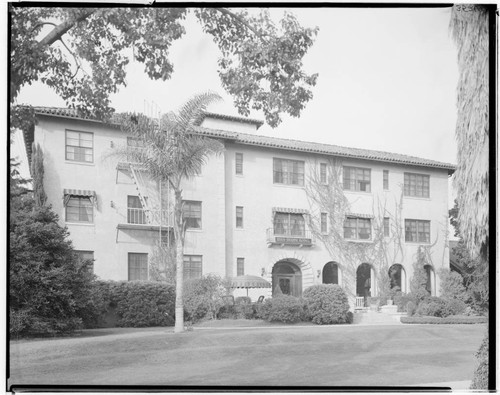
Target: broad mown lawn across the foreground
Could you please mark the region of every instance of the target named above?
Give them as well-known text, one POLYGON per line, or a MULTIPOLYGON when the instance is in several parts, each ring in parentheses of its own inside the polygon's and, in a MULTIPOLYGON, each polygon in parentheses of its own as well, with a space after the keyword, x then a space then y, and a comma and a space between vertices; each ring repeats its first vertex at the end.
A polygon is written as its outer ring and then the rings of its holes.
POLYGON ((486 326, 100 330, 10 343, 13 384, 404 386, 471 380, 486 326))

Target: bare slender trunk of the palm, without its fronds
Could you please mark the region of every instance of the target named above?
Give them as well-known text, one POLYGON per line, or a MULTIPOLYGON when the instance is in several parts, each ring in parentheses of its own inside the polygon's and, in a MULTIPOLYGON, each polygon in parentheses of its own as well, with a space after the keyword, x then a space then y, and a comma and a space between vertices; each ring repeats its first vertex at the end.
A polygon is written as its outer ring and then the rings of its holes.
POLYGON ((174 332, 184 332, 184 303, 182 300, 182 286, 184 283, 184 232, 182 223, 182 195, 180 190, 175 191, 174 205, 174 236, 175 236, 175 327, 174 332))

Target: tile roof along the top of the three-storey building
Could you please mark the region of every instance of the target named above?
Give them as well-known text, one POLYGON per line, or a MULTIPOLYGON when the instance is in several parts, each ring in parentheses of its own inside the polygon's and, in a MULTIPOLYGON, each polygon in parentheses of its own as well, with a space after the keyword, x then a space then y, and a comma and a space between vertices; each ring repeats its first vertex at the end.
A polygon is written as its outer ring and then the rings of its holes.
MULTIPOLYGON (((84 119, 94 122, 100 122, 96 119, 81 117, 78 115, 76 110, 68 108, 35 107, 35 112, 40 115, 84 119)), ((220 117, 222 119, 232 118, 231 116, 222 116, 222 115, 220 117)), ((240 118, 240 121, 245 119, 246 118, 240 118)), ((113 124, 113 119, 111 119, 110 123, 113 124)), ((342 158, 365 159, 371 161, 389 162, 389 163, 405 164, 411 166, 440 168, 448 170, 448 174, 452 174, 456 169, 456 166, 451 163, 438 162, 431 159, 418 158, 415 156, 403 155, 392 152, 375 151, 375 150, 352 148, 352 147, 342 147, 332 144, 323 144, 323 143, 291 140, 278 137, 260 136, 249 133, 229 132, 218 129, 204 128, 201 126, 198 126, 195 129, 195 131, 196 133, 205 136, 222 138, 238 144, 269 147, 269 148, 299 151, 299 152, 309 152, 314 154, 338 156, 342 158)))

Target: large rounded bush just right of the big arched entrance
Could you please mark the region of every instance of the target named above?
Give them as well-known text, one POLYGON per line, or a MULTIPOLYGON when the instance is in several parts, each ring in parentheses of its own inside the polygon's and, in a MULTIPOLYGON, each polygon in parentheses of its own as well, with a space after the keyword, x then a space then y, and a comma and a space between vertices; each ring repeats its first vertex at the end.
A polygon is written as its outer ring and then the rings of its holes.
POLYGON ((307 314, 315 324, 344 324, 348 322, 349 302, 337 284, 313 285, 304 291, 307 314))

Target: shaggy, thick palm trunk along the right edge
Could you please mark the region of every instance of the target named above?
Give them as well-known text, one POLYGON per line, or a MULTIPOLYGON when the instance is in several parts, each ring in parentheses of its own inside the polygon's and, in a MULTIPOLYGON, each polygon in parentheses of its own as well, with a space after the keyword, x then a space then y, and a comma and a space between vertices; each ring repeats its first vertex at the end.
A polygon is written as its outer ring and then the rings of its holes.
POLYGON ((485 6, 458 4, 452 8, 450 22, 459 70, 458 164, 453 177, 460 207, 458 222, 472 255, 483 260, 488 257, 489 237, 489 18, 495 14, 485 6))

